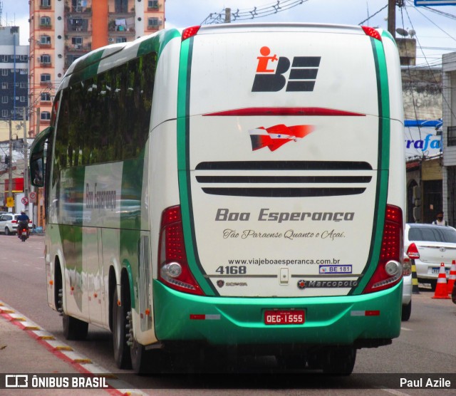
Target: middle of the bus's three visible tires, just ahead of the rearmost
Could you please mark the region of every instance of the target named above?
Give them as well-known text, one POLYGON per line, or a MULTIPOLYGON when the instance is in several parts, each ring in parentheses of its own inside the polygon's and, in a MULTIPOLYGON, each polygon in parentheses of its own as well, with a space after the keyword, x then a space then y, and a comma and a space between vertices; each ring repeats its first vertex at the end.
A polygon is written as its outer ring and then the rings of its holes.
MULTIPOLYGON (((125 287, 125 286, 124 286, 125 287)), ((127 286, 128 288, 128 286, 127 286)), ((123 303, 118 305, 117 288, 114 289, 113 294, 113 350, 114 360, 118 368, 129 369, 131 368, 130 347, 127 344, 127 314, 130 311, 130 299, 128 296, 130 292, 123 292, 123 303)))

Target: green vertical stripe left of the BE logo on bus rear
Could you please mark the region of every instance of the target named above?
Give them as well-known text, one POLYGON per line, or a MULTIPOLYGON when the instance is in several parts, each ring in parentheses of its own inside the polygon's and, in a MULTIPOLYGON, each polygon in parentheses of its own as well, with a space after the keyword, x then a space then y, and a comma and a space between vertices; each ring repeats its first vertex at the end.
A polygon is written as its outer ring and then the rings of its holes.
POLYGON ((187 261, 193 276, 206 296, 218 295, 204 278, 204 269, 199 263, 192 213, 190 181, 190 78, 193 38, 182 41, 180 49, 179 78, 177 88, 177 170, 179 180, 180 208, 184 229, 187 261))

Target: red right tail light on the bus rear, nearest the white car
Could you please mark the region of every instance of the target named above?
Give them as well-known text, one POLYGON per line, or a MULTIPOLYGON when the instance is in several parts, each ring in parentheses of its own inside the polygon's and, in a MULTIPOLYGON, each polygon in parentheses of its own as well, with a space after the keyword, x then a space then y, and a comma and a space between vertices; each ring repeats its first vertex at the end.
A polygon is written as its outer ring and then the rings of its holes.
POLYGON ((378 266, 363 294, 385 290, 399 283, 403 262, 403 217, 402 210, 386 205, 385 226, 378 266))

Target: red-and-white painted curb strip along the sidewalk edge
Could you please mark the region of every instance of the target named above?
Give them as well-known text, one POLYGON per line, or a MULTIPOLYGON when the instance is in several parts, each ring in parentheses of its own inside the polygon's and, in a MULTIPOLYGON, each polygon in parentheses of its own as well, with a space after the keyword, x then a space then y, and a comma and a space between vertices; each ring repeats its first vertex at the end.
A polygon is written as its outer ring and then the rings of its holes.
POLYGON ((134 389, 128 382, 119 380, 115 374, 107 369, 93 363, 80 353, 77 353, 71 346, 63 343, 48 331, 43 330, 39 325, 30 321, 26 316, 0 301, 0 317, 16 325, 17 328, 24 330, 28 336, 44 346, 48 351, 53 353, 57 358, 70 364, 81 374, 91 374, 106 377, 106 383, 110 386, 103 389, 113 396, 147 396, 147 393, 134 389))

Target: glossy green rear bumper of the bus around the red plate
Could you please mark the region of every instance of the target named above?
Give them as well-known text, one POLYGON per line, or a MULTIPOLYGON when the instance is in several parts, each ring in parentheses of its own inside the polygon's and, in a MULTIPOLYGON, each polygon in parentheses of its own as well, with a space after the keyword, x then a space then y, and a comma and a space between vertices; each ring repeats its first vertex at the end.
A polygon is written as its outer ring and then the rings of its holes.
POLYGON ((193 296, 154 281, 155 334, 209 345, 387 345, 400 334, 402 283, 361 296, 232 298, 193 296), (303 310, 304 323, 266 325, 264 311, 303 310))

